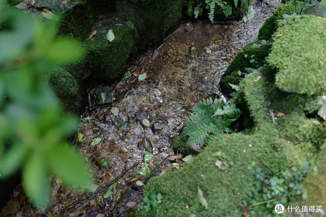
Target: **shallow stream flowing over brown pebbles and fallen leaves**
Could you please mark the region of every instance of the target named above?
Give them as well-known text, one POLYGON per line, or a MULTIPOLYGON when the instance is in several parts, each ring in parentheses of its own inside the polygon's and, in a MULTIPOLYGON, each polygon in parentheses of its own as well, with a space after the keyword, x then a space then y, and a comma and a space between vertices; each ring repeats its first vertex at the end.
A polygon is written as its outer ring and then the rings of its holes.
MULTIPOLYGON (((135 185, 145 177, 138 173, 140 167, 146 165, 152 170, 159 165, 159 174, 171 166, 163 159, 173 156, 172 139, 179 135, 189 109, 209 96, 226 100, 219 90, 220 78, 236 53, 257 39, 259 28, 279 3, 279 0, 268 0, 268 3, 254 0, 256 15, 247 22, 182 23, 158 49, 130 60, 128 79, 90 91, 89 106, 81 116, 79 129, 85 141, 83 145, 77 142, 76 148, 95 174, 90 188, 96 192, 67 189, 60 179, 52 177, 51 207, 45 214, 129 216, 142 198, 142 187, 135 185), (193 30, 191 25, 195 27, 193 30), (186 33, 185 30, 191 31, 186 33), (138 81, 138 75, 143 73, 147 74, 146 79, 138 81), (106 92, 104 102, 110 101, 112 93, 112 104, 101 104, 99 93, 102 92, 106 92), (91 145, 92 139, 97 137, 102 138, 101 142, 91 145), (143 160, 146 150, 154 155, 148 163, 143 160), (110 166, 100 165, 98 159, 110 162, 110 166), (104 198, 112 183, 117 183, 116 188, 104 198)), ((15 192, 19 194, 17 188, 15 192)), ((20 211, 21 216, 38 215, 27 202, 20 211)))

